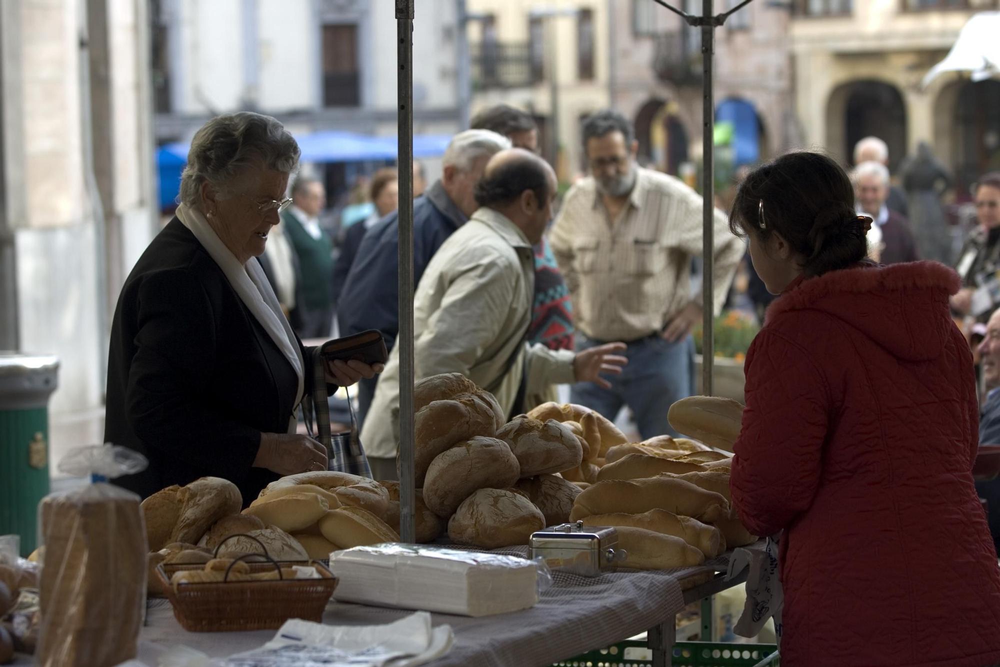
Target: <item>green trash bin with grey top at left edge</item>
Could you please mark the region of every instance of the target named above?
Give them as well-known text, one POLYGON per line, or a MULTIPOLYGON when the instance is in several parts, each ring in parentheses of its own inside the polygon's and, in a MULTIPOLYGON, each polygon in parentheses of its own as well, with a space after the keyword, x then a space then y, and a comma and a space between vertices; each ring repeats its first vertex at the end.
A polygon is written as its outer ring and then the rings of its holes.
POLYGON ((49 397, 55 357, 0 352, 0 535, 35 550, 38 503, 49 493, 49 397))

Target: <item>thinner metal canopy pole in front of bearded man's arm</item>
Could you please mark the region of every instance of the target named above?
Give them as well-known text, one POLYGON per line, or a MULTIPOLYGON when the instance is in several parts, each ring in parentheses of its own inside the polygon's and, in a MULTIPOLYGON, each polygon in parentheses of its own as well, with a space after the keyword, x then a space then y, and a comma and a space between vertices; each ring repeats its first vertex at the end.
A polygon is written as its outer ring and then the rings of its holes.
POLYGON ((712 367, 715 361, 715 346, 713 328, 715 323, 715 96, 712 86, 712 58, 715 56, 715 25, 712 17, 712 0, 702 0, 701 25, 701 59, 704 75, 702 93, 704 106, 702 109, 702 131, 705 133, 703 142, 702 168, 702 307, 704 317, 701 338, 701 371, 702 394, 712 396, 712 367))

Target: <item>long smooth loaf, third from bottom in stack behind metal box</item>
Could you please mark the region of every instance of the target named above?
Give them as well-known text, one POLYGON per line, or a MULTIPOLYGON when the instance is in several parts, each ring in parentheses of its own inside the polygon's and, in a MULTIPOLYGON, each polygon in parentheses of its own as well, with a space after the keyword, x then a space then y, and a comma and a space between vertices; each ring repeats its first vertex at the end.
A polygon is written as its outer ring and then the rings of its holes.
POLYGON ((598 482, 576 497, 570 521, 594 514, 642 514, 657 509, 709 523, 727 517, 729 503, 719 494, 672 477, 610 480, 598 482))

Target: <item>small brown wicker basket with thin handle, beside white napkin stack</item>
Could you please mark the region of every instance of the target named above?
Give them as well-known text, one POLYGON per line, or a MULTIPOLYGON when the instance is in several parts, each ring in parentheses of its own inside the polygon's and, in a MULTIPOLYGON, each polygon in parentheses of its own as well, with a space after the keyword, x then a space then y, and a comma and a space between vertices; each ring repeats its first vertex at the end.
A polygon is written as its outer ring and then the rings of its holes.
POLYGON ((277 568, 280 573, 282 565, 307 565, 316 568, 322 578, 192 583, 175 588, 170 583, 175 572, 201 570, 204 564, 160 565, 156 573, 173 605, 174 617, 189 632, 276 630, 290 618, 322 621, 338 581, 329 568, 318 561, 276 562, 265 558, 268 562, 247 563, 250 572, 277 568))

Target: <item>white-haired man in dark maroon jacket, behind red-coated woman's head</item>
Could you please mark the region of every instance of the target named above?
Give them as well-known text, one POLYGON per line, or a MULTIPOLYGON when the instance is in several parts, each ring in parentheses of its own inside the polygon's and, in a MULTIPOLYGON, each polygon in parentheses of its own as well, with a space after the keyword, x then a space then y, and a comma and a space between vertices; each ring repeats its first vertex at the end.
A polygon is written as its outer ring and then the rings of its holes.
POLYGON ((910 222, 901 213, 886 204, 889 196, 889 170, 881 162, 862 162, 851 172, 857 211, 875 220, 882 232, 882 251, 879 261, 896 264, 916 261, 917 244, 910 230, 910 222))

